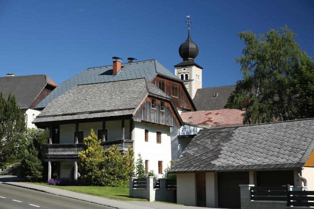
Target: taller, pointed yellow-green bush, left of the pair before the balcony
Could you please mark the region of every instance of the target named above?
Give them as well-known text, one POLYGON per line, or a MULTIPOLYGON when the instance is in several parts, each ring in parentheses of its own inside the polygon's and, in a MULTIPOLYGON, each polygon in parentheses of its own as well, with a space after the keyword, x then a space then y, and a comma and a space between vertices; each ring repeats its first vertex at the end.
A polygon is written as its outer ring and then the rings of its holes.
POLYGON ((78 153, 81 180, 85 185, 104 186, 105 153, 93 129, 83 142, 83 150, 78 153))

